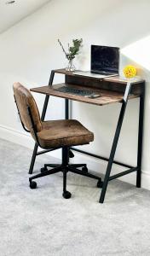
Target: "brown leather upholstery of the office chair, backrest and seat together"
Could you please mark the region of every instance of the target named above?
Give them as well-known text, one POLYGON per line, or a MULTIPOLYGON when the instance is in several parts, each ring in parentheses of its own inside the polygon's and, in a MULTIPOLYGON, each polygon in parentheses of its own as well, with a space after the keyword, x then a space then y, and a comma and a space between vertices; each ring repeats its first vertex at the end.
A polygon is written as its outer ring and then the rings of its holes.
POLYGON ((20 118, 26 128, 32 129, 31 118, 27 107, 31 108, 32 118, 37 130, 38 142, 42 148, 83 145, 94 140, 94 134, 77 120, 56 120, 41 122, 37 104, 29 90, 20 83, 14 83, 14 97, 19 108, 20 118))

